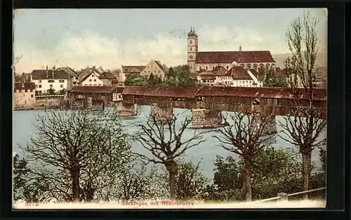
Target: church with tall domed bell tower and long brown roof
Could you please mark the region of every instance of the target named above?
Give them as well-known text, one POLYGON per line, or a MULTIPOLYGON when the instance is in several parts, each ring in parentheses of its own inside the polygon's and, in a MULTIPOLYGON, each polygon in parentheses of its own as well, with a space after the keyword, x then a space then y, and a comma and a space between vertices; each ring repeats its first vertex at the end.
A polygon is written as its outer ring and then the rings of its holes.
POLYGON ((201 51, 195 30, 191 27, 187 34, 187 64, 192 73, 222 66, 226 70, 240 66, 244 69, 275 69, 275 61, 268 50, 244 51, 201 51))

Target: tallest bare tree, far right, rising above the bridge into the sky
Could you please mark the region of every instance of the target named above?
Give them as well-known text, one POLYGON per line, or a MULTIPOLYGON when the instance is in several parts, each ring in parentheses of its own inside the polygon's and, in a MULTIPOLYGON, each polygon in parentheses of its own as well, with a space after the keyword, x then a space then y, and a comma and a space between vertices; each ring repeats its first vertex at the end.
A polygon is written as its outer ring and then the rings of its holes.
MULTIPOLYGON (((325 117, 313 106, 314 82, 316 81, 318 69, 315 67, 318 38, 318 18, 312 18, 310 13, 304 13, 303 18, 291 21, 286 32, 286 40, 291 51, 291 57, 285 61, 286 74, 289 86, 296 96, 296 106, 299 106, 298 96, 307 97, 307 106, 293 110, 291 116, 284 117, 280 122, 284 128, 281 137, 287 142, 299 147, 303 156, 303 190, 309 188, 311 175, 311 155, 314 148, 324 144, 326 139, 319 140, 319 136, 326 128, 325 117), (303 88, 304 94, 299 94, 298 88, 303 88)), ((307 199, 307 194, 304 198, 307 199)))

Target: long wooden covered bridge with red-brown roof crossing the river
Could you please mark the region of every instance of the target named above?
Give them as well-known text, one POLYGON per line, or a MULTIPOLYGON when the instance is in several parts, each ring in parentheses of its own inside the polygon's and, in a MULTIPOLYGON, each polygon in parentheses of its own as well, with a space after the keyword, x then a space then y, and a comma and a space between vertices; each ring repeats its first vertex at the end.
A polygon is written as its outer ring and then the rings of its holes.
MULTIPOLYGON (((119 114, 136 115, 137 105, 151 105, 152 114, 160 117, 172 114, 173 108, 191 109, 194 121, 207 118, 199 127, 222 121, 221 111, 255 110, 261 115, 286 116, 310 104, 303 88, 293 95, 289 88, 131 86, 124 88, 122 96, 119 114)), ((314 89, 312 106, 326 117, 326 89, 314 89)))

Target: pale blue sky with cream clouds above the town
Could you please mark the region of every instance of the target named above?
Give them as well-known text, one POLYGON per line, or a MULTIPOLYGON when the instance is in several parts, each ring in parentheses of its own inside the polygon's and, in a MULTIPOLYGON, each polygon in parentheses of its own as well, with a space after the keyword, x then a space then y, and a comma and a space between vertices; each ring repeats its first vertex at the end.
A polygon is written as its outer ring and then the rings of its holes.
POLYGON ((32 69, 121 65, 160 60, 187 63, 187 33, 194 27, 199 51, 270 50, 289 53, 286 29, 310 11, 319 18, 319 48, 326 48, 324 8, 21 9, 14 12, 14 67, 32 69))

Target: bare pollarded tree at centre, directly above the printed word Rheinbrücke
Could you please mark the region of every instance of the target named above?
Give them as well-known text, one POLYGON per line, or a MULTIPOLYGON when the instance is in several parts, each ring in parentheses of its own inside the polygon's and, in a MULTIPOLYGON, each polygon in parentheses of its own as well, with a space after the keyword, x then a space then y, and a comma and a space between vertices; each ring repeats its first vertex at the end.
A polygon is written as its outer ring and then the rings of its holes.
POLYGON ((201 132, 194 131, 189 139, 183 139, 183 134, 192 121, 185 118, 185 121, 176 125, 177 118, 173 114, 165 121, 157 121, 157 114, 149 117, 147 125, 140 125, 141 132, 135 135, 135 140, 140 142, 143 148, 152 153, 152 157, 135 153, 146 163, 162 164, 166 167, 169 177, 171 200, 176 199, 176 175, 178 164, 176 158, 183 156, 185 151, 204 142, 201 132), (180 127, 180 128, 177 128, 180 127))

